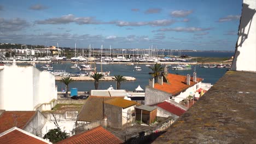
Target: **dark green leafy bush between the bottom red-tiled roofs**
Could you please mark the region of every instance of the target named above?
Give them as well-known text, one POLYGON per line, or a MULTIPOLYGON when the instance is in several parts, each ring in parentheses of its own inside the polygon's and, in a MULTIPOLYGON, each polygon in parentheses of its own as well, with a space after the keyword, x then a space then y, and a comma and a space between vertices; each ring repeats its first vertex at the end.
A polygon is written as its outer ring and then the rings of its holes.
POLYGON ((50 142, 59 142, 61 140, 64 140, 68 137, 68 134, 65 131, 61 131, 59 127, 56 129, 50 129, 48 133, 44 135, 44 139, 49 139, 50 142))

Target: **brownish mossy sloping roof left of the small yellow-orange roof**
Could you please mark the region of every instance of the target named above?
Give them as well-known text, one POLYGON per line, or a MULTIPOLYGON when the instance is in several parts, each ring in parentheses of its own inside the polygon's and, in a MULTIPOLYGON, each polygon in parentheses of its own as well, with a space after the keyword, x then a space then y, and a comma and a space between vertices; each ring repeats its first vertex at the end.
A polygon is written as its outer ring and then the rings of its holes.
POLYGON ((103 119, 103 101, 124 97, 90 96, 79 112, 77 121, 91 122, 103 119))

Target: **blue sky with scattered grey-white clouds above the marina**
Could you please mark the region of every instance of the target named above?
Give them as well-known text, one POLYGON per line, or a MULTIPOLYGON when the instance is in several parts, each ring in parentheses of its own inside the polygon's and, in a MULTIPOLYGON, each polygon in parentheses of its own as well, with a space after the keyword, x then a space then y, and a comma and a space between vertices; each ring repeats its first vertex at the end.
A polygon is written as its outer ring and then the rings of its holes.
POLYGON ((235 51, 242 0, 0 1, 0 43, 235 51))

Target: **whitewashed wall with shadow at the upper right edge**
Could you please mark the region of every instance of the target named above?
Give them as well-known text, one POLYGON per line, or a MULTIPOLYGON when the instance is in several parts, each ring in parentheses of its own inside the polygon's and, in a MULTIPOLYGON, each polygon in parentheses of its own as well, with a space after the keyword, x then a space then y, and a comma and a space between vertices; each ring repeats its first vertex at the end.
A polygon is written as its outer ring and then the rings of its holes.
POLYGON ((243 9, 238 32, 236 52, 231 70, 256 71, 255 11, 255 0, 243 0, 243 9))

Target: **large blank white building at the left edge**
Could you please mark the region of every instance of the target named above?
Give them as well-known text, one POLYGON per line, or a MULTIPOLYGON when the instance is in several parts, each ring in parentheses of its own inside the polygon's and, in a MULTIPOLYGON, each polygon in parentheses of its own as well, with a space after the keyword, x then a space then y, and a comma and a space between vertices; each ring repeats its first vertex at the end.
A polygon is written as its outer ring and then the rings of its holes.
POLYGON ((55 77, 33 66, 5 65, 0 71, 0 109, 51 110, 57 104, 55 77))

